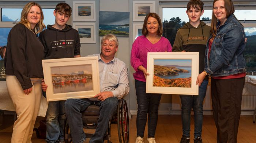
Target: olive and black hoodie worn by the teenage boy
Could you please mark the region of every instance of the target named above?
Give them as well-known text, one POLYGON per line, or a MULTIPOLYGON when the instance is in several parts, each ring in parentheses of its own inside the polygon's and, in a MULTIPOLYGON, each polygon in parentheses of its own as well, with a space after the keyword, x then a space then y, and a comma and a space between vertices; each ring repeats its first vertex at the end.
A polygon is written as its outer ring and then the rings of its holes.
POLYGON ((204 22, 193 27, 189 22, 179 28, 173 44, 173 52, 199 52, 199 73, 204 70, 206 43, 210 37, 211 27, 204 22))

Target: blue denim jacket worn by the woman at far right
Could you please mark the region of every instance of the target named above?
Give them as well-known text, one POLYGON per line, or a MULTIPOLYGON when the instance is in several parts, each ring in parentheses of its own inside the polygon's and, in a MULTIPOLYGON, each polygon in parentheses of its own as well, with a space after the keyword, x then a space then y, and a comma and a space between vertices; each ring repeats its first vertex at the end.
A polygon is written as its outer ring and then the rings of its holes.
POLYGON ((217 30, 216 37, 212 42, 210 58, 208 58, 209 40, 207 42, 204 70, 211 77, 244 73, 246 71, 243 55, 245 49, 244 38, 244 27, 231 14, 226 22, 222 26, 219 26, 217 30))

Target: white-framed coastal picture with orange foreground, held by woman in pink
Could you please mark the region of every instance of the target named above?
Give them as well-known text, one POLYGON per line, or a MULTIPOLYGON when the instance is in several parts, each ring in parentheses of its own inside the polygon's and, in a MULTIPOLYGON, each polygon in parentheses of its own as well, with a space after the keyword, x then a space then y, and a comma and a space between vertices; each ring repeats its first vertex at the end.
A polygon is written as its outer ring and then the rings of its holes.
POLYGON ((149 52, 147 63, 146 93, 198 95, 198 52, 149 52))

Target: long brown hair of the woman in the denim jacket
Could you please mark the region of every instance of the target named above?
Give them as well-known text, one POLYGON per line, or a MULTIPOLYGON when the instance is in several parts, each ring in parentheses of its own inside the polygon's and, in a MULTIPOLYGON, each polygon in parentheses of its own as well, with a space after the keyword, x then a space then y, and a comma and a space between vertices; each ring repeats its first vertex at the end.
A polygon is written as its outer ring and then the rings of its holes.
MULTIPOLYGON (((211 34, 213 37, 216 36, 216 32, 217 32, 217 18, 215 17, 214 13, 213 13, 213 6, 214 3, 218 1, 218 0, 214 0, 213 4, 212 4, 212 18, 211 18, 211 34)), ((224 7, 225 7, 225 11, 227 13, 226 18, 229 18, 229 16, 235 12, 235 8, 234 8, 234 4, 232 2, 232 0, 223 0, 224 1, 224 7)))

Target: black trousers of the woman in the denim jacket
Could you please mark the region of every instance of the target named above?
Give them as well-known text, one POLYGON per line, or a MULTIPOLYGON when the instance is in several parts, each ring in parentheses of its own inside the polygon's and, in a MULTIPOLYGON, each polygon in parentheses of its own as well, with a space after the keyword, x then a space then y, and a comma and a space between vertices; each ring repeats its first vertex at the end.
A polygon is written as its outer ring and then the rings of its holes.
POLYGON ((245 77, 211 78, 212 111, 217 127, 217 143, 236 143, 245 77))

